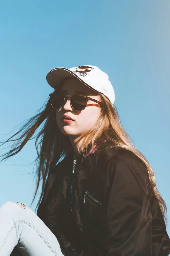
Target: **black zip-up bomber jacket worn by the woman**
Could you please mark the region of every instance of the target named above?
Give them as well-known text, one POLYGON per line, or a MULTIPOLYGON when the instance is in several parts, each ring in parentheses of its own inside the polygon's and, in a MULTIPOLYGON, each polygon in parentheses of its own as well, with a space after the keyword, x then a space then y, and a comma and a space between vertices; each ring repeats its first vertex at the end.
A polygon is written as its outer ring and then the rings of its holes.
POLYGON ((145 164, 120 147, 81 160, 72 152, 50 171, 37 212, 65 255, 169 255, 145 164))

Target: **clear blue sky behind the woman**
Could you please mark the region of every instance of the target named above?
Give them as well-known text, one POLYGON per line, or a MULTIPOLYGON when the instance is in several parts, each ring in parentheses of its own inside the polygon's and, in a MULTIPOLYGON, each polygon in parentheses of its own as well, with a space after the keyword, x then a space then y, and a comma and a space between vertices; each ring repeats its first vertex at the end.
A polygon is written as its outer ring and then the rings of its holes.
MULTIPOLYGON (((169 218, 169 13, 169 0, 1 1, 0 141, 42 107, 52 92, 51 69, 98 66, 109 75, 125 130, 155 172, 169 218)), ((0 155, 10 145, 1 146, 0 155)), ((30 207, 36 156, 31 140, 0 162, 0 205, 30 207)))

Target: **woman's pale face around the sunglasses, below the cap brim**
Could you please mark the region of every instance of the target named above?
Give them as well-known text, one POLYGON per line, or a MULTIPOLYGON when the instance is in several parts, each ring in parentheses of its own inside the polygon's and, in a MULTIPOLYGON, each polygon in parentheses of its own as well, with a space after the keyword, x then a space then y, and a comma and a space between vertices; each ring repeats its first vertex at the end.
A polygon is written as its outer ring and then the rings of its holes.
MULTIPOLYGON (((99 100, 99 95, 91 88, 81 83, 77 78, 69 77, 62 85, 60 92, 65 95, 81 94, 99 100)), ((68 99, 63 107, 56 109, 56 119, 59 129, 64 135, 79 137, 87 132, 97 122, 101 113, 101 107, 98 103, 91 100, 87 101, 87 106, 84 110, 74 110, 68 99), (74 121, 65 123, 62 120, 63 115, 68 115, 74 121)), ((100 121, 100 120, 99 120, 100 121)), ((99 122, 98 121, 98 122, 99 122)))

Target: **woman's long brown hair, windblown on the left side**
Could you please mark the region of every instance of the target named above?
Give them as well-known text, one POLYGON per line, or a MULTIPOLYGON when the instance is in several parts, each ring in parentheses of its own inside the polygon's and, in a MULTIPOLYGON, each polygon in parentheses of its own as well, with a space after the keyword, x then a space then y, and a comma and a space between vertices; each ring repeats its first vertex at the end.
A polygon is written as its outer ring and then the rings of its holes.
MULTIPOLYGON (((156 188, 155 175, 152 167, 150 166, 145 156, 135 148, 132 139, 124 130, 116 106, 112 105, 109 99, 103 94, 99 93, 99 96, 101 98, 101 101, 103 102, 103 107, 101 109, 99 120, 101 120, 102 118, 103 121, 102 123, 96 122, 96 124, 86 134, 79 138, 77 143, 82 140, 79 152, 81 154, 87 152, 88 146, 94 146, 94 143, 100 140, 103 135, 108 138, 110 142, 112 142, 111 147, 119 146, 132 151, 145 163, 147 167, 151 187, 159 202, 160 209, 166 223, 167 207, 165 201, 163 200, 159 191, 156 188)), ((40 127, 38 135, 35 136, 35 147, 37 151, 37 158, 35 159, 35 164, 37 164, 37 175, 36 188, 32 203, 37 194, 40 182, 42 181, 41 195, 39 197, 36 209, 41 202, 44 193, 45 181, 47 175, 50 174, 50 170, 55 167, 55 165, 61 160, 61 158, 67 157, 67 155, 70 153, 70 150, 72 150, 72 145, 69 137, 64 135, 58 128, 55 109, 51 106, 50 99, 47 99, 42 108, 38 111, 38 114, 30 118, 28 121, 26 120, 26 123, 20 128, 17 133, 11 136, 7 141, 3 142, 4 144, 9 141, 14 141, 11 150, 6 154, 2 155, 5 157, 1 160, 3 161, 20 152, 24 145, 27 143, 27 141, 32 138, 37 128, 42 126, 40 127), (40 111, 42 108, 44 109, 40 111), (20 136, 16 139, 12 139, 16 135, 20 136), (40 150, 38 151, 39 146, 40 150)))

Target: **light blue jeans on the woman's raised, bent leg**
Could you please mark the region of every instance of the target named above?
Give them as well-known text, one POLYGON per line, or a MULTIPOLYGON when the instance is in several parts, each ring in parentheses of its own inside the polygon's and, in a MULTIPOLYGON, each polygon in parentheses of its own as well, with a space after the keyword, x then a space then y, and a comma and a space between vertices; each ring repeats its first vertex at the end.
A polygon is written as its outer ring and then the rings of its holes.
POLYGON ((27 206, 6 202, 0 207, 0 256, 17 245, 24 256, 64 256, 55 235, 27 206))

